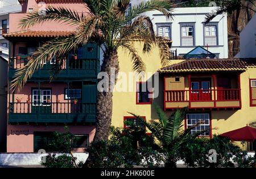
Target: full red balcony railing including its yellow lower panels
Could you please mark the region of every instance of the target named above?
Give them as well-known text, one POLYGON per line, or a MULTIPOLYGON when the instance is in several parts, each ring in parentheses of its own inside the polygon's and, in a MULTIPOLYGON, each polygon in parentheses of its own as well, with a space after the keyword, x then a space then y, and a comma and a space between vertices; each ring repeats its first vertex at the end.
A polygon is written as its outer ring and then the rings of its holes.
POLYGON ((168 108, 240 108, 241 90, 169 90, 164 91, 164 103, 168 108), (169 105, 169 107, 168 107, 169 105))

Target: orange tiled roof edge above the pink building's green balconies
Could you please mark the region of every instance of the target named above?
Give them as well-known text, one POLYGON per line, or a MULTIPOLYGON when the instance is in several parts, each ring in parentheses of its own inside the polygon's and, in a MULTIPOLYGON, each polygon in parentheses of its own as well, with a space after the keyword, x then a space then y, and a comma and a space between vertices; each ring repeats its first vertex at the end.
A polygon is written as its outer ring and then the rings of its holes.
POLYGON ((65 37, 71 35, 71 31, 20 31, 5 33, 3 37, 65 37))

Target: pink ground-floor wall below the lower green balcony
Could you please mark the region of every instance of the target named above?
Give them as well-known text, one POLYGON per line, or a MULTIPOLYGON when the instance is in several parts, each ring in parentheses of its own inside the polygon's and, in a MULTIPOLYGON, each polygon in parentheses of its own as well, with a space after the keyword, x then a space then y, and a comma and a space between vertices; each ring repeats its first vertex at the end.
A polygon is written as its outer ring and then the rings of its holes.
MULTIPOLYGON (((68 126, 72 134, 89 134, 89 142, 92 142, 95 134, 95 126, 68 126)), ((8 125, 7 126, 7 152, 34 152, 34 131, 64 131, 64 126, 31 126, 8 125)), ((84 148, 74 148, 75 152, 83 152, 84 148)))

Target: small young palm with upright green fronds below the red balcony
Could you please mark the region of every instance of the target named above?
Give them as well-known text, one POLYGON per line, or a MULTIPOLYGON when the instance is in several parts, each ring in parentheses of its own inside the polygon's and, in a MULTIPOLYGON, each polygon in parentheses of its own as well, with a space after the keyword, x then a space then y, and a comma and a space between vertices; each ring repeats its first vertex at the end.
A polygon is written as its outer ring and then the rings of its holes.
POLYGON ((179 150, 181 146, 188 142, 188 137, 196 138, 200 134, 205 133, 205 131, 191 134, 191 130, 199 126, 200 123, 183 130, 187 108, 177 109, 169 117, 166 116, 159 106, 155 106, 155 109, 159 120, 145 122, 145 125, 161 148, 160 152, 163 153, 165 167, 176 167, 176 162, 180 159, 179 150))

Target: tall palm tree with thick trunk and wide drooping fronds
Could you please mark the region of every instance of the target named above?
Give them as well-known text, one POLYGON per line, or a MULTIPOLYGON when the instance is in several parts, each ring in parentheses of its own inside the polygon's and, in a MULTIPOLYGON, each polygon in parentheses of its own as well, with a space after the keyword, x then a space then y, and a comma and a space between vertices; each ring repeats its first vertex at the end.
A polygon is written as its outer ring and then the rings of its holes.
MULTIPOLYGON (((158 10, 167 18, 172 17, 173 5, 168 0, 151 0, 141 2, 131 7, 130 0, 84 0, 88 14, 80 15, 78 12, 63 7, 48 7, 44 15, 39 12, 32 12, 20 20, 22 28, 29 28, 32 25, 44 22, 62 22, 75 25, 76 31, 68 37, 58 37, 40 46, 32 55, 26 66, 16 71, 12 88, 18 89, 31 78, 35 70, 43 67, 43 62, 49 61, 55 54, 64 56, 70 50, 77 49, 79 45, 85 45, 88 41, 96 42, 104 52, 104 59, 101 71, 110 74, 110 69, 115 69, 118 73, 118 48, 128 50, 133 62, 133 69, 138 73, 145 71, 142 58, 134 48, 133 40, 143 42, 143 52, 149 53, 152 46, 156 45, 160 49, 162 65, 168 63, 169 48, 161 37, 155 36, 150 18, 143 15, 143 12, 158 10), (126 14, 129 14, 128 16, 126 14), (132 23, 130 23, 132 22, 132 23)), ((57 65, 61 66, 63 59, 57 65)), ((54 68, 53 75, 58 73, 60 67, 54 68)), ((108 80, 109 84, 105 91, 98 92, 97 99, 97 120, 96 134, 94 140, 108 139, 109 129, 112 119, 112 87, 117 79, 108 80)))

